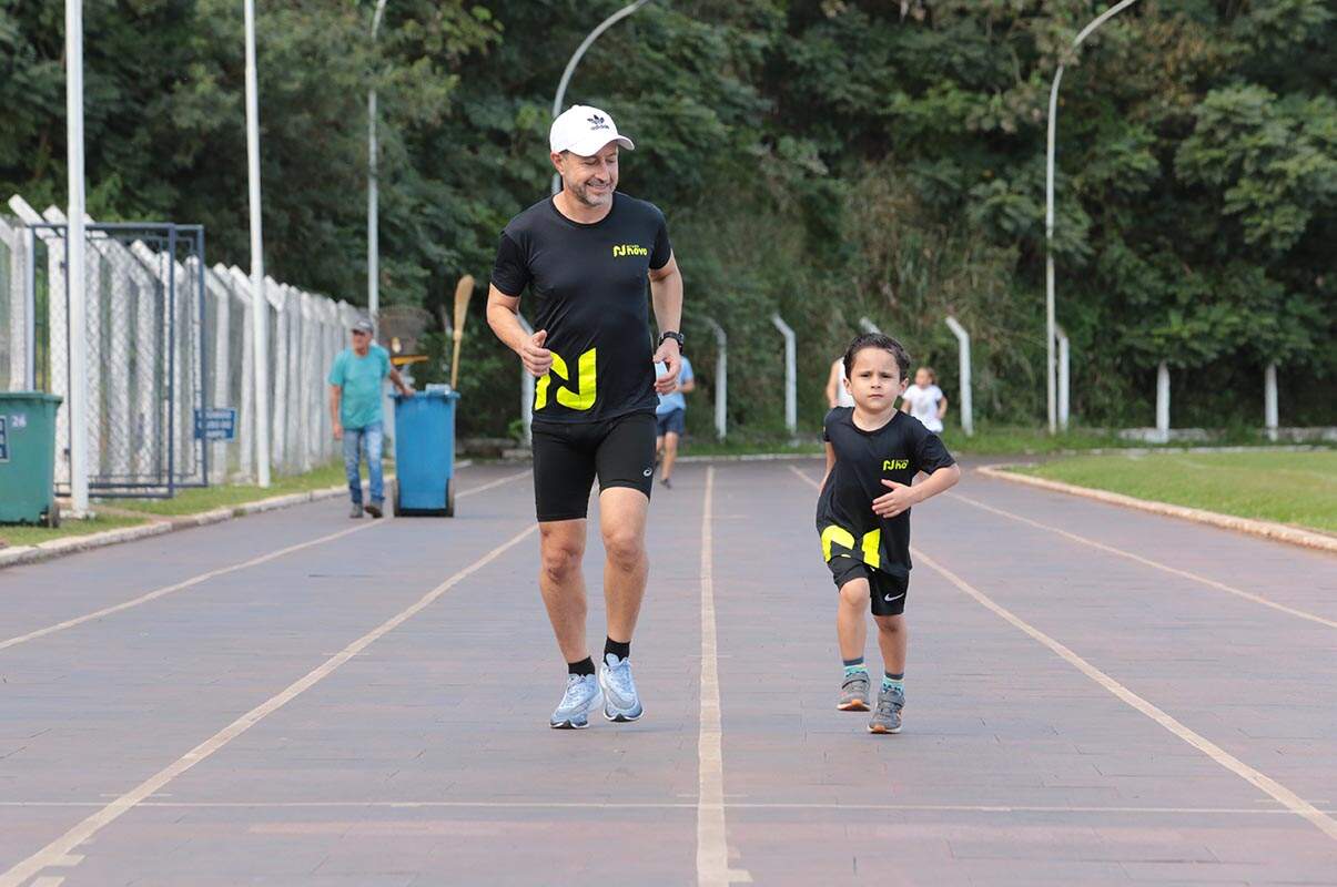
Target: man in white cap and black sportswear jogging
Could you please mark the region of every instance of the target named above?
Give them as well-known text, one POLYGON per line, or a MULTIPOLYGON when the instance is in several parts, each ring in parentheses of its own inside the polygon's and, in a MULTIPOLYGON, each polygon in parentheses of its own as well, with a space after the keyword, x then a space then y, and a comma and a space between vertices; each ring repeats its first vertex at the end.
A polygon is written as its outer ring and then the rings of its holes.
POLYGON ((646 512, 655 470, 656 393, 673 391, 681 369, 682 275, 663 212, 616 190, 619 150, 634 146, 611 116, 574 106, 554 120, 548 146, 562 191, 511 219, 501 232, 488 325, 539 379, 539 588, 567 661, 566 693, 550 724, 582 729, 600 704, 614 721, 636 720, 643 712, 631 677, 631 636, 650 570, 646 512), (660 330, 654 349, 647 278, 660 330), (516 317, 527 286, 533 335, 516 317), (655 361, 667 367, 658 378, 655 361), (582 572, 596 476, 608 610, 598 679, 586 644, 582 572))

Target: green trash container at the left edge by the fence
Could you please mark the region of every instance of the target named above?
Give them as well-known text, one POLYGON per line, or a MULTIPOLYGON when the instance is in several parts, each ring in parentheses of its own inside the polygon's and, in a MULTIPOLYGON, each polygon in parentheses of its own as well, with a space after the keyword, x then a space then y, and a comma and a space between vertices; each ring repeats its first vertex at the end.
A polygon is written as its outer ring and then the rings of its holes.
POLYGON ((41 391, 0 391, 0 524, 60 525, 56 409, 41 391))

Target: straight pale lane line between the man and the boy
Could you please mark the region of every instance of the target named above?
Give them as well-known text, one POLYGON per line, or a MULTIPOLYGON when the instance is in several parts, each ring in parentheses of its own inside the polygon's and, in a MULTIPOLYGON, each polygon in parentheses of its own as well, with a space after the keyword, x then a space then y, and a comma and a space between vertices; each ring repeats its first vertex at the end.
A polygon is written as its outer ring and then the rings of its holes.
POLYGON ((719 664, 715 659, 714 530, 710 510, 715 492, 715 466, 706 466, 706 501, 701 516, 701 733, 697 739, 697 883, 727 887, 750 882, 743 870, 729 868, 725 831, 723 725, 719 709, 719 664))

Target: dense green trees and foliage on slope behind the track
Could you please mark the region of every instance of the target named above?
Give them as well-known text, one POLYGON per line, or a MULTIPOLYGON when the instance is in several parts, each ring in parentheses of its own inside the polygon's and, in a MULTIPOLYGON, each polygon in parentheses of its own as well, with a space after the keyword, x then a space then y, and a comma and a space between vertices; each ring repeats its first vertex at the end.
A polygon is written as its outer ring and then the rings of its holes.
MULTIPOLYGON (((366 85, 382 111, 382 299, 436 313, 487 279, 505 220, 551 172, 552 91, 620 0, 259 0, 267 267, 361 302, 366 85)), ((62 4, 0 0, 0 190, 63 199, 62 4)), ((246 264, 242 4, 86 4, 90 211, 203 222, 246 264)), ((730 334, 730 418, 781 422, 779 311, 800 330, 801 422, 861 315, 955 387, 955 314, 983 417, 1044 411, 1044 139, 1060 94, 1058 310, 1074 413, 1258 423, 1281 362, 1282 422, 1333 423, 1337 16, 1325 0, 1143 0, 1078 55, 1103 3, 652 0, 604 33, 568 102, 640 148, 623 190, 668 215, 703 381, 702 315, 730 334)), ((471 317, 464 390, 517 403, 517 367, 471 317)), ((691 426, 709 426, 710 386, 691 426)), ((509 406, 465 410, 500 434, 509 406)))

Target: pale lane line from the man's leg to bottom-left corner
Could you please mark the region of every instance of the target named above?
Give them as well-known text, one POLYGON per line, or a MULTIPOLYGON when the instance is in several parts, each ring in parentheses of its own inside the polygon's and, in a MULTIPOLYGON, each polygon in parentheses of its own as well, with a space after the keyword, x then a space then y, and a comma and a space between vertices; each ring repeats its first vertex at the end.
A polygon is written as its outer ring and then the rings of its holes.
POLYGON ((174 779, 189 771, 195 764, 209 759, 217 751, 223 748, 227 743, 233 741, 251 727, 265 720, 279 708, 297 699, 308 689, 325 680, 333 675, 341 665, 348 663, 350 659, 365 651, 368 647, 374 644, 377 640, 394 631, 405 621, 432 605, 439 597, 445 594, 448 590, 459 585, 461 581, 483 569, 497 557, 515 548, 525 538, 532 536, 539 529, 537 524, 532 524, 520 533, 512 536, 508 541, 496 546, 479 560, 473 561, 460 572, 451 576, 448 580, 433 588, 431 592, 424 594, 408 609, 401 610, 396 616, 392 616, 386 621, 381 623, 378 627, 373 628, 366 635, 362 635, 356 641, 345 647, 342 651, 325 660, 316 669, 309 672, 305 677, 294 681, 286 689, 265 700, 255 708, 250 709, 237 720, 234 720, 227 727, 222 728, 203 743, 195 748, 186 752, 183 756, 158 771, 148 779, 146 779, 139 785, 131 788, 124 795, 116 800, 106 804, 102 810, 92 814, 82 823, 67 831, 60 838, 55 839, 33 855, 28 856, 19 864, 16 864, 9 871, 0 875, 0 887, 20 887, 25 880, 40 872, 43 868, 59 864, 59 860, 68 855, 71 851, 78 848, 86 840, 96 835, 99 831, 110 826, 111 823, 120 819, 123 815, 142 804, 155 792, 162 791, 174 779))

